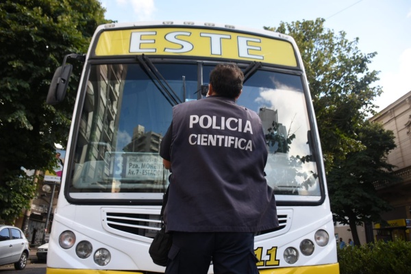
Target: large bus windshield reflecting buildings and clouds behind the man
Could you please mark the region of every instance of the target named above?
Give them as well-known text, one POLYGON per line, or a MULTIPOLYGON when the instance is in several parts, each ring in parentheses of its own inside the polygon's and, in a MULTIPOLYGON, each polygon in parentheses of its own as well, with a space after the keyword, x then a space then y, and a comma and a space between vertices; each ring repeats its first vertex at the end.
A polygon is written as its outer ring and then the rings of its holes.
MULTIPOLYGON (((68 197, 158 201, 169 184, 160 142, 177 103, 201 99, 214 65, 92 64, 79 120, 68 197), (92 195, 90 195, 92 193, 92 195)), ((245 66, 242 66, 244 69, 245 66)), ((269 151, 265 173, 277 201, 320 201, 303 77, 262 67, 237 101, 257 112, 269 151)))

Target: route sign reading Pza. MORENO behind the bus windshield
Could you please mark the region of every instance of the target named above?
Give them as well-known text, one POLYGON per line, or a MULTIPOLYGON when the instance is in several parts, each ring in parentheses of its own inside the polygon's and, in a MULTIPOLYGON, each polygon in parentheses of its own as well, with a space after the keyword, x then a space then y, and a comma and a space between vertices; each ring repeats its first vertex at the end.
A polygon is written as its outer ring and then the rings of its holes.
POLYGON ((127 153, 124 177, 134 180, 162 179, 162 158, 154 153, 127 153))

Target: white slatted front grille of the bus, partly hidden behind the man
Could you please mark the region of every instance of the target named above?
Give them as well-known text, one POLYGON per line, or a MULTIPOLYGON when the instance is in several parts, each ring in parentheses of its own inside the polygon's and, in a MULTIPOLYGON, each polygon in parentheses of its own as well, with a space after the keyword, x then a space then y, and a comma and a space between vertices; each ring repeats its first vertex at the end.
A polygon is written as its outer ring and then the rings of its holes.
MULTIPOLYGON (((270 230, 258 232, 256 235, 284 234, 290 229, 291 210, 278 212, 279 227, 270 230)), ((143 210, 143 209, 124 209, 124 208, 102 208, 101 215, 103 227, 113 234, 125 236, 127 238, 136 238, 143 236, 154 238, 155 233, 160 230, 160 210, 143 210)))

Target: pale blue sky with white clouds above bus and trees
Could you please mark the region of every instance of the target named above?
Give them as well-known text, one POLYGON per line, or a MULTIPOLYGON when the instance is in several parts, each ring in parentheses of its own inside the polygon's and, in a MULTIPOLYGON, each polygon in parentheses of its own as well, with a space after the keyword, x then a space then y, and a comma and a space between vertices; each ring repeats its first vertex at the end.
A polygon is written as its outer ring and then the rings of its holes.
POLYGON ((359 38, 369 64, 379 71, 383 94, 377 112, 411 91, 411 0, 100 0, 105 18, 136 21, 195 21, 238 27, 277 27, 279 23, 325 19, 325 27, 348 40, 359 38))

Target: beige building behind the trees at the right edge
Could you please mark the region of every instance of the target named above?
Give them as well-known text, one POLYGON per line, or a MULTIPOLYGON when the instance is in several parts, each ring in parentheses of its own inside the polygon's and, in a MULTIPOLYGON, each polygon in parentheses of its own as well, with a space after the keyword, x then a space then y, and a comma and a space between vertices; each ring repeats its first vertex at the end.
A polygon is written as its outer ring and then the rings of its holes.
MULTIPOLYGON (((397 147, 388 153, 387 162, 395 166, 400 182, 376 182, 377 195, 388 201, 393 210, 382 214, 386 224, 357 227, 360 242, 373 240, 411 240, 411 91, 370 119, 391 130, 397 147)), ((336 240, 352 239, 348 225, 336 224, 336 240)))

